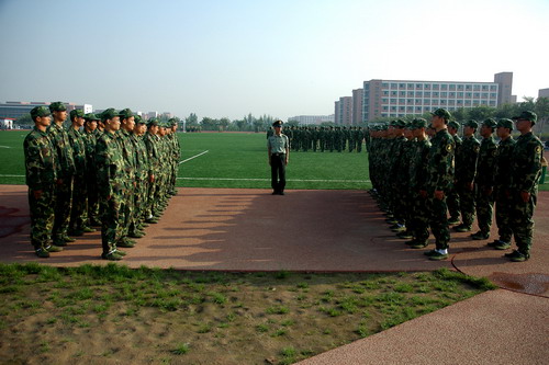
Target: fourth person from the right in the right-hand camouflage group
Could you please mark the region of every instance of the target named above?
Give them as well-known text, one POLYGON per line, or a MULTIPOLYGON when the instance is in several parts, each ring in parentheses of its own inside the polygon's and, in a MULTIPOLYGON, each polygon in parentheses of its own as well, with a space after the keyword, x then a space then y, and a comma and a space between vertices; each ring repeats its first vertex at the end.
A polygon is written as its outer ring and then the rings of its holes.
POLYGON ((474 119, 467 121, 463 125, 463 141, 456 153, 456 187, 459 192, 461 224, 453 227, 457 232, 468 232, 474 221, 474 176, 479 160, 480 142, 474 138, 479 123, 474 119))

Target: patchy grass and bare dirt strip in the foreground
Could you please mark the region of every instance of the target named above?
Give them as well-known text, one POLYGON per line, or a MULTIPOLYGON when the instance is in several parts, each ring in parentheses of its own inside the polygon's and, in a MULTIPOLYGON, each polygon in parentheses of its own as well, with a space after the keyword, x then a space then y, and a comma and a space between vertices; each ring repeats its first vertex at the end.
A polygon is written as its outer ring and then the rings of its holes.
POLYGON ((0 264, 0 288, 5 362, 292 364, 495 286, 446 269, 223 273, 29 263, 0 264))

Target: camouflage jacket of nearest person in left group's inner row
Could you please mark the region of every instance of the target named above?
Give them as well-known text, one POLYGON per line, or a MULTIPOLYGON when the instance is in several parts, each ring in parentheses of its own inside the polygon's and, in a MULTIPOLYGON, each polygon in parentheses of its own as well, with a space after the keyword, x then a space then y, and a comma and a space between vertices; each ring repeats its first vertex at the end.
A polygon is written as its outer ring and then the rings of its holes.
POLYGON ((96 170, 99 196, 121 195, 125 189, 124 151, 115 134, 103 133, 96 146, 96 170))

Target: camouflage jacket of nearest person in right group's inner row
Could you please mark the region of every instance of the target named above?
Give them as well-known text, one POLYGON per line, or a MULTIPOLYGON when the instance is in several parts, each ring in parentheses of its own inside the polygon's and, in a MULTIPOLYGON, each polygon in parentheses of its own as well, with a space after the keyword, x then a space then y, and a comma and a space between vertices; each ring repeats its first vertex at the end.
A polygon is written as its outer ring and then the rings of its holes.
POLYGON ((448 130, 441 129, 430 140, 427 160, 427 193, 435 191, 448 192, 453 182, 453 151, 456 145, 448 130))

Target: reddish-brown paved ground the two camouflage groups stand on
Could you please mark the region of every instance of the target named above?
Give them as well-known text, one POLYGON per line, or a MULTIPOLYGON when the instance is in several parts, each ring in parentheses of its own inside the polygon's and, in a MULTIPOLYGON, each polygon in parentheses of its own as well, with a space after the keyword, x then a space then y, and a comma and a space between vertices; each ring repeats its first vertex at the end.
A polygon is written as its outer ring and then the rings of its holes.
MULTIPOLYGON (((105 264, 99 232, 43 260, 29 242, 26 187, 0 185, 0 262, 105 264)), ((303 364, 546 364, 549 358, 549 194, 540 193, 533 258, 512 263, 452 233, 451 260, 432 262, 388 229, 362 191, 180 189, 122 261, 179 270, 399 272, 457 269, 503 288, 405 322, 303 364)), ((477 227, 474 227, 477 228, 477 227)), ((474 231, 474 230, 473 230, 474 231)), ((492 240, 496 238, 492 230, 492 240)), ((433 241, 433 239, 432 239, 433 241)))

